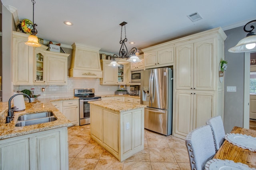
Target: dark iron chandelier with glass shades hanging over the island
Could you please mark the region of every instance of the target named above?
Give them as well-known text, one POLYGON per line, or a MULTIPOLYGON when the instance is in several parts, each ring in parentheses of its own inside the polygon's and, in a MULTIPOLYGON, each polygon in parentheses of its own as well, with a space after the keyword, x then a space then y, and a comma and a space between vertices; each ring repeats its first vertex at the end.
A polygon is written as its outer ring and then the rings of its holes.
POLYGON ((137 63, 140 62, 141 60, 139 59, 138 56, 136 56, 135 54, 137 53, 137 49, 135 47, 133 47, 129 52, 127 50, 126 44, 125 42, 127 42, 127 38, 126 38, 126 25, 127 22, 122 22, 119 25, 121 25, 121 38, 120 38, 120 50, 119 50, 119 56, 114 54, 113 55, 113 61, 108 64, 109 66, 120 66, 120 64, 127 64, 129 62, 133 62, 133 63, 137 63), (124 39, 122 39, 122 30, 123 30, 123 26, 124 26, 124 39), (118 60, 118 62, 115 61, 115 58, 120 58, 120 60, 118 60), (125 58, 129 58, 129 59, 125 59, 125 58))

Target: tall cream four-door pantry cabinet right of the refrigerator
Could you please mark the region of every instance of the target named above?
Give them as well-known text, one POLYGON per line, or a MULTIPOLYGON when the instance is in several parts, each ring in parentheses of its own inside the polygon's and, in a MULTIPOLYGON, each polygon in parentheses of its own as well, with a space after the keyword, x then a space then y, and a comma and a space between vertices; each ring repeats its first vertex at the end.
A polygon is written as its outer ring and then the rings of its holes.
POLYGON ((219 80, 226 34, 219 27, 179 39, 175 44, 174 133, 185 139, 211 117, 223 118, 224 82, 219 80))

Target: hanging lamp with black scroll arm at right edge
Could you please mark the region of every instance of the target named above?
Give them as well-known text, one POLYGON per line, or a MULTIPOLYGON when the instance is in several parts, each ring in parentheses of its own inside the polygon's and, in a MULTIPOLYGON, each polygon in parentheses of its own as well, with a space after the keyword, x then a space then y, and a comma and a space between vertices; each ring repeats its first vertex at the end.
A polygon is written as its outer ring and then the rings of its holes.
POLYGON ((251 52, 256 51, 256 33, 252 32, 254 30, 254 26, 251 25, 250 30, 246 30, 246 25, 256 22, 256 20, 252 20, 244 25, 244 31, 248 34, 245 38, 241 39, 236 46, 228 49, 230 53, 243 53, 243 52, 251 52))

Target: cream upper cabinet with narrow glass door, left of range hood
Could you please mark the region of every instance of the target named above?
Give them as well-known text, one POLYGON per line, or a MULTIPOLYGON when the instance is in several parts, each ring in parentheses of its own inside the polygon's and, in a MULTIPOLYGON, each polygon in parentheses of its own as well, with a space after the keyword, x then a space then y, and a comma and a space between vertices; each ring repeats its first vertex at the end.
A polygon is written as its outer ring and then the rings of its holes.
POLYGON ((69 54, 46 49, 44 45, 35 49, 34 84, 67 84, 69 54))

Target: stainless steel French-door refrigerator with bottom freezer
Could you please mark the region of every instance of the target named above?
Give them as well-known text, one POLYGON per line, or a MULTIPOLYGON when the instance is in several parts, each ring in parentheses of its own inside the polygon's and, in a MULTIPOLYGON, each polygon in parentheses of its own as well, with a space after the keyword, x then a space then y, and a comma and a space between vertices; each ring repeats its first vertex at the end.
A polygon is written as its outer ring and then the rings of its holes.
POLYGON ((172 134, 173 70, 142 70, 140 79, 140 104, 147 106, 144 112, 144 127, 166 136, 172 134))

